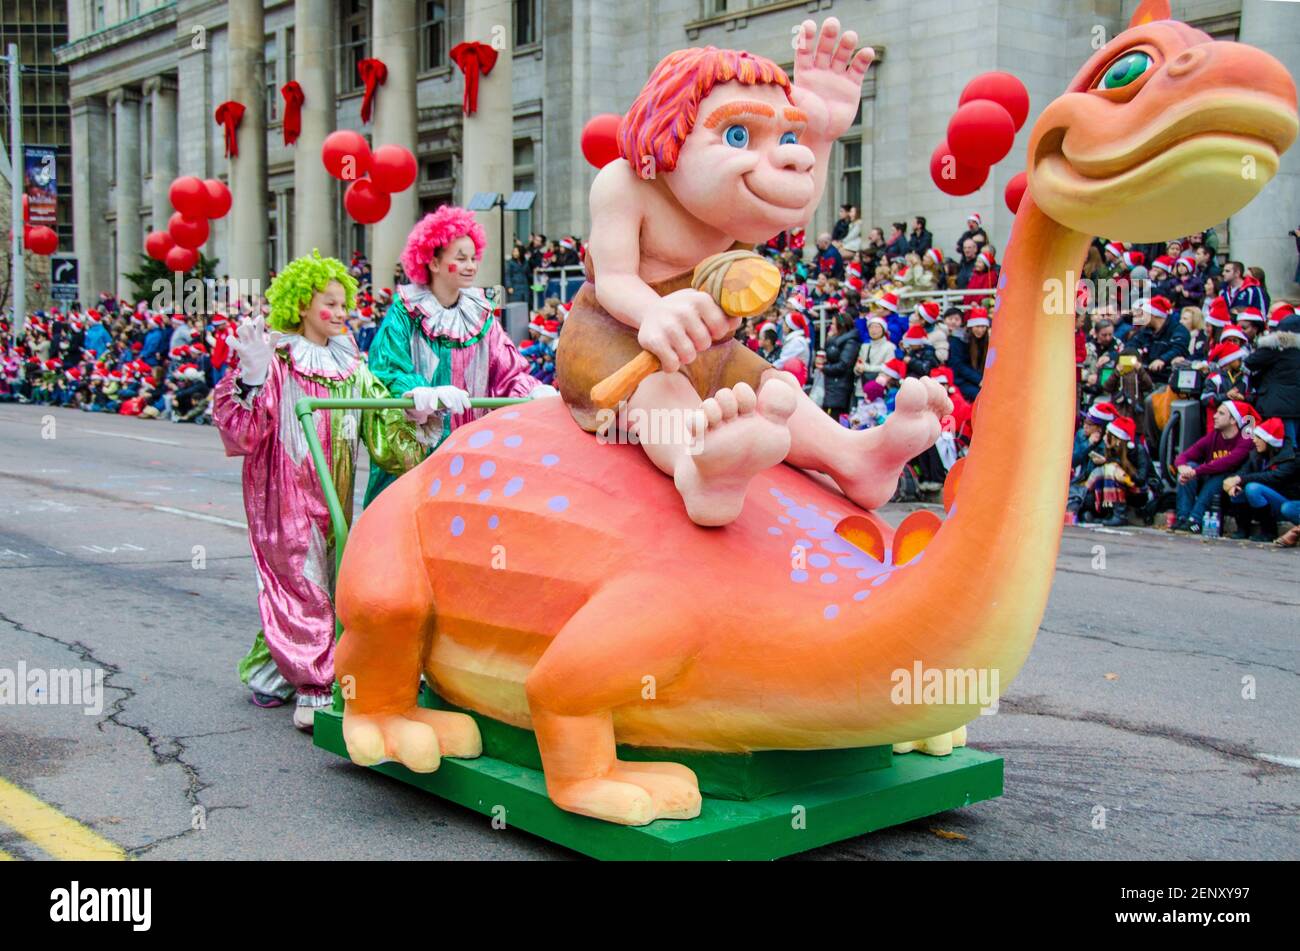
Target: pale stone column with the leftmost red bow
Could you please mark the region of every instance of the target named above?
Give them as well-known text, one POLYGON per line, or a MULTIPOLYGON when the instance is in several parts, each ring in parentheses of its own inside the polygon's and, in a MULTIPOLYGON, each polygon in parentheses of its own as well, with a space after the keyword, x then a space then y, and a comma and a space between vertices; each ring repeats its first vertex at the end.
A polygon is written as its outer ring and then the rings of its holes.
POLYGON ((265 18, 261 0, 230 0, 226 97, 244 107, 239 155, 230 158, 229 255, 233 281, 261 281, 266 262, 266 104, 264 90, 265 18))

